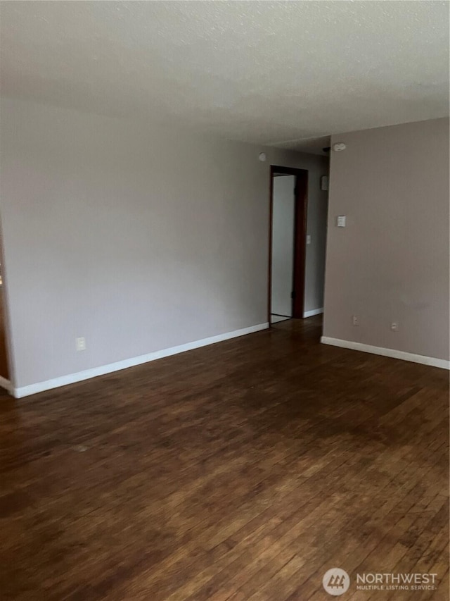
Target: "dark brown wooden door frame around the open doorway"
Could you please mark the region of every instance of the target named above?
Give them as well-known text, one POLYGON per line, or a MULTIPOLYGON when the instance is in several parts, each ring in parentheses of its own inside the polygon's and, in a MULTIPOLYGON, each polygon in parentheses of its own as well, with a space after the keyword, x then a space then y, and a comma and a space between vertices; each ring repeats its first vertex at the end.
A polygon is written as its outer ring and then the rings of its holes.
POLYGON ((295 211, 294 211, 294 268, 293 268, 293 318, 303 318, 304 313, 304 277, 306 271, 307 211, 308 211, 308 171, 292 167, 270 166, 269 201, 269 290, 268 316, 271 326, 272 292, 272 213, 274 210, 274 174, 295 175, 295 211))

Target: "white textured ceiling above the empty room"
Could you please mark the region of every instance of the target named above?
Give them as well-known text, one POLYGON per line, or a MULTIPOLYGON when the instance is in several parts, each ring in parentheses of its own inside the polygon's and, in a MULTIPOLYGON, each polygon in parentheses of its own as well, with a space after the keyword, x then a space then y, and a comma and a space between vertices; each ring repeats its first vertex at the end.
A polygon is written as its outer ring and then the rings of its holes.
POLYGON ((320 151, 449 113, 444 1, 1 3, 2 93, 320 151))

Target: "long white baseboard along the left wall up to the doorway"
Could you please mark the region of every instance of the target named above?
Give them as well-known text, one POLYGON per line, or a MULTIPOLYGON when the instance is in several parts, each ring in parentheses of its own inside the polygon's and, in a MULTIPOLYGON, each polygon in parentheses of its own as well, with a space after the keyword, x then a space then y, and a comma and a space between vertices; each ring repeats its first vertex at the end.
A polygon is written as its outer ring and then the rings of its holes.
POLYGON ((259 332, 259 330, 265 330, 266 328, 269 328, 269 323, 259 323, 257 326, 250 326, 250 328, 226 332, 210 338, 203 338, 203 340, 194 340, 193 342, 188 342, 186 345, 162 349, 161 351, 155 351, 153 353, 141 355, 140 357, 133 357, 131 359, 124 359, 124 361, 117 361, 117 363, 110 363, 108 365, 94 367, 93 369, 86 369, 85 371, 79 371, 78 373, 70 373, 68 376, 60 376, 60 378, 54 378, 53 380, 46 380, 45 382, 38 382, 36 384, 30 384, 20 388, 11 387, 10 392, 16 399, 20 399, 21 397, 35 395, 37 392, 44 392, 45 390, 51 390, 52 388, 59 388, 60 386, 74 384, 75 382, 82 382, 82 380, 89 380, 90 378, 96 378, 96 376, 104 376, 105 373, 120 371, 121 369, 126 369, 127 367, 134 367, 135 365, 148 363, 148 361, 155 361, 156 359, 170 357, 170 355, 183 353, 192 349, 198 349, 207 345, 214 345, 216 342, 222 342, 223 340, 229 340, 230 338, 237 338, 238 336, 244 336, 245 334, 252 334, 254 332, 259 332))

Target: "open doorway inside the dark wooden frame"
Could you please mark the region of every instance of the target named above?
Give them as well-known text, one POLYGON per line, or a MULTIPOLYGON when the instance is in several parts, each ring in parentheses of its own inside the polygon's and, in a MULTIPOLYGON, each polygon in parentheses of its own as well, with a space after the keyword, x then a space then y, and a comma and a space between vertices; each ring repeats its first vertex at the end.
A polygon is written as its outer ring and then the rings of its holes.
POLYGON ((269 323, 304 316, 308 171, 271 166, 269 323))

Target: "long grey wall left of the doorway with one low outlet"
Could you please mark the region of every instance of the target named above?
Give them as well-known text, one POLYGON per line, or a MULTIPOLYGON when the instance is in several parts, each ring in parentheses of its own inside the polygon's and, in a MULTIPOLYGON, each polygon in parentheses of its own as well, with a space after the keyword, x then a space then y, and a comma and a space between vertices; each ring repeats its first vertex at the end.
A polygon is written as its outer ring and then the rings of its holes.
POLYGON ((266 323, 270 165, 326 161, 17 99, 0 159, 15 387, 266 323))

